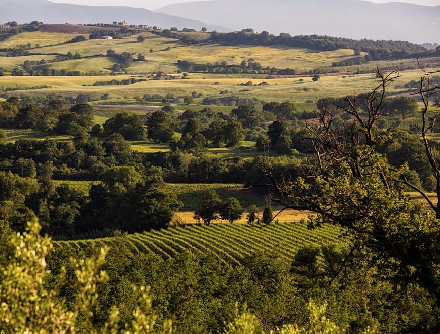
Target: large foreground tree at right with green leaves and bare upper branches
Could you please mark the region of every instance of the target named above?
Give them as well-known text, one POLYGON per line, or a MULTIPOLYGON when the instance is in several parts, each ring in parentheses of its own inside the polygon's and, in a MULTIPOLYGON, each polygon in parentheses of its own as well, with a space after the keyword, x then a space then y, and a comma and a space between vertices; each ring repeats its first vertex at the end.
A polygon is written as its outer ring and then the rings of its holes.
MULTIPOLYGON (((408 165, 393 168, 386 156, 378 152, 378 146, 388 135, 376 131, 376 124, 385 103, 386 88, 398 76, 396 72, 378 72, 378 86, 364 96, 366 109, 357 107, 358 97, 347 97, 345 106, 338 108, 350 115, 347 123, 334 122, 335 114, 325 108, 319 111, 319 125, 309 128, 315 154, 304 177, 274 186, 283 199, 288 198, 289 208, 317 213, 311 218, 310 227, 328 223, 346 228, 353 242, 353 256, 365 261, 376 258, 378 261, 369 265, 376 266, 384 280, 416 284, 429 291, 438 305, 439 276, 434 268, 440 258, 430 245, 440 238, 440 228, 435 223, 440 218, 440 205, 408 180, 408 165), (417 191, 432 212, 410 202, 404 186, 417 191)), ((425 88, 428 77, 429 74, 422 76, 419 90, 424 105, 421 133, 438 185, 438 159, 426 137, 432 126, 427 116, 432 93, 425 88)), ((262 165, 270 176, 273 170, 265 163, 262 165)), ((440 189, 436 188, 440 196, 440 189)), ((282 203, 283 199, 275 200, 282 203)))

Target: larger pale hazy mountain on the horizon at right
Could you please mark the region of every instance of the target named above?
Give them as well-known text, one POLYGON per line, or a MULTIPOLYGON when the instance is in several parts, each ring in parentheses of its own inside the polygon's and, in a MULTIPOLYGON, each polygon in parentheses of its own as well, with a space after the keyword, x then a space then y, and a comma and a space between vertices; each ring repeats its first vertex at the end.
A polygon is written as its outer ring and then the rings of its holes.
POLYGON ((363 0, 209 0, 157 10, 215 25, 270 33, 440 41, 440 6, 363 0))

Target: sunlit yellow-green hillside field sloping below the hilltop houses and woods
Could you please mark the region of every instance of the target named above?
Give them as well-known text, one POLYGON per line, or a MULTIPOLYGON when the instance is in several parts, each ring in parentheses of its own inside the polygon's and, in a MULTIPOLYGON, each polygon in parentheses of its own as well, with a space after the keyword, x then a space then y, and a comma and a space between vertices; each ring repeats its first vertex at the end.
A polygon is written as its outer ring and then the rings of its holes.
MULTIPOLYGON (((71 38, 70 38, 71 39, 71 38)), ((127 70, 130 72, 159 71, 168 67, 175 72, 178 59, 190 60, 198 64, 227 61, 239 65, 243 60, 254 59, 264 67, 312 69, 328 67, 333 62, 359 58, 351 49, 318 51, 304 48, 291 48, 284 45, 274 46, 224 46, 219 44, 187 45, 180 40, 166 38, 149 32, 114 40, 86 40, 72 45, 56 45, 34 49, 41 54, 78 52, 82 57, 105 55, 108 49, 117 53, 130 52, 144 54, 146 60, 135 62, 127 70), (145 41, 138 42, 143 36, 145 41), (153 50, 153 52, 150 52, 153 50)))

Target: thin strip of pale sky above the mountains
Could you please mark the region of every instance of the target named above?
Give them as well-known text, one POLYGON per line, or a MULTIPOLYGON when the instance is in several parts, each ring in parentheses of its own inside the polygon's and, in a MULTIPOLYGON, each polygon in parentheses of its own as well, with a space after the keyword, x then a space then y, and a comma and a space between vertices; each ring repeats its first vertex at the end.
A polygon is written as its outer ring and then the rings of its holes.
MULTIPOLYGON (((50 0, 54 3, 70 3, 91 6, 130 6, 137 8, 158 9, 169 4, 185 3, 190 0, 50 0)), ((388 3, 389 0, 371 0, 375 3, 388 3)), ((425 6, 438 6, 440 0, 400 0, 404 3, 412 3, 425 6)))

